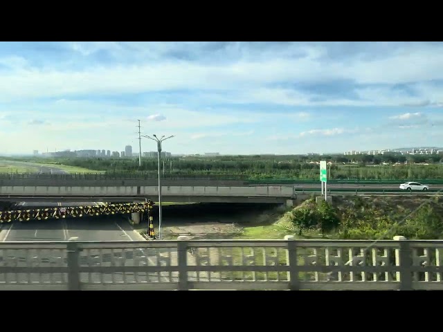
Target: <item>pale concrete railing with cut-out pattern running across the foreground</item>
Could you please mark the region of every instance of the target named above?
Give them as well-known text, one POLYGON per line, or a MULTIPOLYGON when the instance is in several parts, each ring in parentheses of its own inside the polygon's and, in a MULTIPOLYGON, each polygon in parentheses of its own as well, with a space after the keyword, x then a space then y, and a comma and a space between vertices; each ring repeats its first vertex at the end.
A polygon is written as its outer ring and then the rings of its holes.
POLYGON ((443 241, 2 242, 0 290, 434 290, 443 241))

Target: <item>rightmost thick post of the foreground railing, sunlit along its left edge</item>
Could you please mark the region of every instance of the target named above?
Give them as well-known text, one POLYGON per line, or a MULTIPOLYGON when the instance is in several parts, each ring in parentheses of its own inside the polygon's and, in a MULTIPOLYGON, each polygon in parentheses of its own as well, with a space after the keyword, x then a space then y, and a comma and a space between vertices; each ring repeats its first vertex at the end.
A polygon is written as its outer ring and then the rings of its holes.
POLYGON ((396 236, 394 241, 399 241, 399 249, 395 249, 395 265, 399 266, 396 273, 397 281, 400 282, 399 291, 413 291, 413 266, 412 252, 406 237, 396 236))

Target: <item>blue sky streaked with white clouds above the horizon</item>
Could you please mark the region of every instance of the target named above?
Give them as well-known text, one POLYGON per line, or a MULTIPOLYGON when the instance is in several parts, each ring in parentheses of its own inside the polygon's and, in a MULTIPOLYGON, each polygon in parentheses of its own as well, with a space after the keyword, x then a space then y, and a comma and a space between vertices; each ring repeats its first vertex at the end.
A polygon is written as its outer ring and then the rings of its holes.
POLYGON ((3 154, 440 147, 442 107, 441 42, 0 42, 3 154))

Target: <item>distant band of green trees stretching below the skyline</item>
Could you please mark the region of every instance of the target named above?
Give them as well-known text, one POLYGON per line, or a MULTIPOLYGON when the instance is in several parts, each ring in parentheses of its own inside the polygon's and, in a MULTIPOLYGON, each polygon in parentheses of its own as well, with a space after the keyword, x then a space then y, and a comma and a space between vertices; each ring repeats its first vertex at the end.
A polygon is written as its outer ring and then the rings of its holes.
MULTIPOLYGON (((318 160, 332 162, 331 179, 403 180, 443 179, 442 154, 383 154, 352 156, 192 156, 165 159, 165 176, 231 175, 249 179, 310 179, 318 180, 318 160), (408 163, 405 165, 404 162, 408 163), (390 163, 390 165, 383 165, 390 163), (395 165, 395 163, 398 163, 395 165), (417 165, 427 163, 428 165, 417 165)), ((5 158, 6 159, 6 158, 5 158)), ((152 174, 157 172, 156 158, 7 158, 37 163, 55 163, 83 167, 107 174, 152 174)))

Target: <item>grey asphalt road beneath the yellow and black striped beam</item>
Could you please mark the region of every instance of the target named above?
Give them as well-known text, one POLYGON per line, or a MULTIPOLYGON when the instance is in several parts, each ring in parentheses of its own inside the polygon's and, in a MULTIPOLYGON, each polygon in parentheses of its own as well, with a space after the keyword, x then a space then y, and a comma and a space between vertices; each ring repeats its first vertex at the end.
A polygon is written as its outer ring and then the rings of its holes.
POLYGON ((125 216, 22 221, 0 225, 0 241, 145 241, 125 216))

